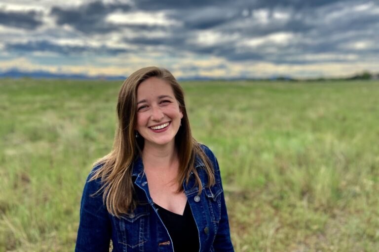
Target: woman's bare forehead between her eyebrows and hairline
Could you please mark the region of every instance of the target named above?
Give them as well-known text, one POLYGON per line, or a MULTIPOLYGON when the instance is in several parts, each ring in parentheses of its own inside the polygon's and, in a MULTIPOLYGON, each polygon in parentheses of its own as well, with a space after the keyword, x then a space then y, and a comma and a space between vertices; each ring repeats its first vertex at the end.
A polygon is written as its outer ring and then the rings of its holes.
POLYGON ((153 98, 159 95, 170 95, 174 97, 174 91, 165 80, 151 77, 140 83, 137 89, 137 99, 153 98))

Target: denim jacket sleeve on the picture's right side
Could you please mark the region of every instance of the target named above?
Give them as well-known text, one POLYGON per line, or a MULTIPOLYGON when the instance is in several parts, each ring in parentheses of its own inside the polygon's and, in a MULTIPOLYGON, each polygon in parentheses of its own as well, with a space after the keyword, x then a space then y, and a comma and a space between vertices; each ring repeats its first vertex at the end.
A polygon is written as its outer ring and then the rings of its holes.
MULTIPOLYGON (((219 163, 217 161, 217 158, 213 155, 213 153, 209 149, 208 149, 208 152, 210 152, 208 157, 213 163, 213 168, 215 170, 215 177, 220 179, 220 184, 222 187, 219 163)), ((234 252, 233 245, 230 239, 230 229, 229 229, 229 221, 227 218, 227 206, 225 204, 224 189, 223 189, 223 192, 220 194, 220 197, 221 197, 221 218, 220 218, 219 228, 216 234, 216 238, 215 238, 215 241, 213 242, 213 248, 215 252, 234 252)))

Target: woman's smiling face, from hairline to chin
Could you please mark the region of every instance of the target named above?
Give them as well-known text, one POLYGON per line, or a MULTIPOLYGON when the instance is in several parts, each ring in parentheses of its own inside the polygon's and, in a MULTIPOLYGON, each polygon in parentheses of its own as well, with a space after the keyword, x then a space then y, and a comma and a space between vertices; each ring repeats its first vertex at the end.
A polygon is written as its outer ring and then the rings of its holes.
POLYGON ((145 146, 173 144, 182 118, 170 84, 151 77, 138 86, 136 130, 145 139, 145 146))

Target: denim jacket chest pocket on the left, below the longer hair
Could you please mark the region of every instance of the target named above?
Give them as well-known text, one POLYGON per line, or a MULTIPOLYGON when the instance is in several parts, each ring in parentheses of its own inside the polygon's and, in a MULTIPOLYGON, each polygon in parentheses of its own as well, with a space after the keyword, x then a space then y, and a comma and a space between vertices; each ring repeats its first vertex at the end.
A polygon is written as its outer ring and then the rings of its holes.
POLYGON ((144 251, 144 245, 149 240, 149 205, 139 205, 130 214, 115 218, 118 245, 122 252, 144 251))

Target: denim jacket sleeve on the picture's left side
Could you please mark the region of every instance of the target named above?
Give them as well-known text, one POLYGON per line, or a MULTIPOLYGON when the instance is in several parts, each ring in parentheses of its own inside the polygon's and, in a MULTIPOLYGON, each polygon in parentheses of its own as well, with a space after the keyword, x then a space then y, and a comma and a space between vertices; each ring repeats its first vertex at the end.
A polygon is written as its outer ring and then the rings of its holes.
POLYGON ((76 252, 109 252, 111 221, 104 206, 102 194, 91 196, 101 186, 88 176, 80 203, 80 221, 77 231, 76 252))

